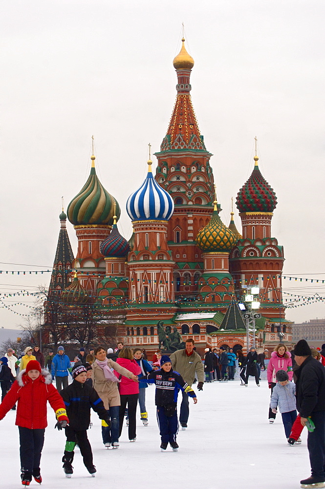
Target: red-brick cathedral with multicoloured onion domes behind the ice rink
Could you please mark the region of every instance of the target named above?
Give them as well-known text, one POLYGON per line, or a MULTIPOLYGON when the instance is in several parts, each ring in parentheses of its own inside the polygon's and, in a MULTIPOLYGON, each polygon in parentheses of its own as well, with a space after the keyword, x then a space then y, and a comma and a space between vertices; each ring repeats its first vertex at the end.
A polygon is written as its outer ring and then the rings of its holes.
POLYGON ((67 213, 60 214, 49 298, 56 293, 72 305, 95 303, 125 346, 141 346, 150 357, 164 338, 175 336, 179 341, 193 337, 199 352, 220 346, 247 351, 246 321, 238 304, 245 287, 257 286, 257 348, 272 349, 279 331, 290 344, 291 323, 282 304, 283 246, 271 232, 275 192, 261 175, 256 155, 236 198, 241 234, 233 212, 228 226, 221 221, 212 154, 190 94, 194 60, 184 38, 173 66, 176 101, 160 151, 154 153, 155 175, 149 159, 147 177, 126 200, 133 226, 129 242, 118 230, 120 205, 99 180, 92 155, 89 178, 67 213), (78 239, 75 257, 66 219, 78 239))

